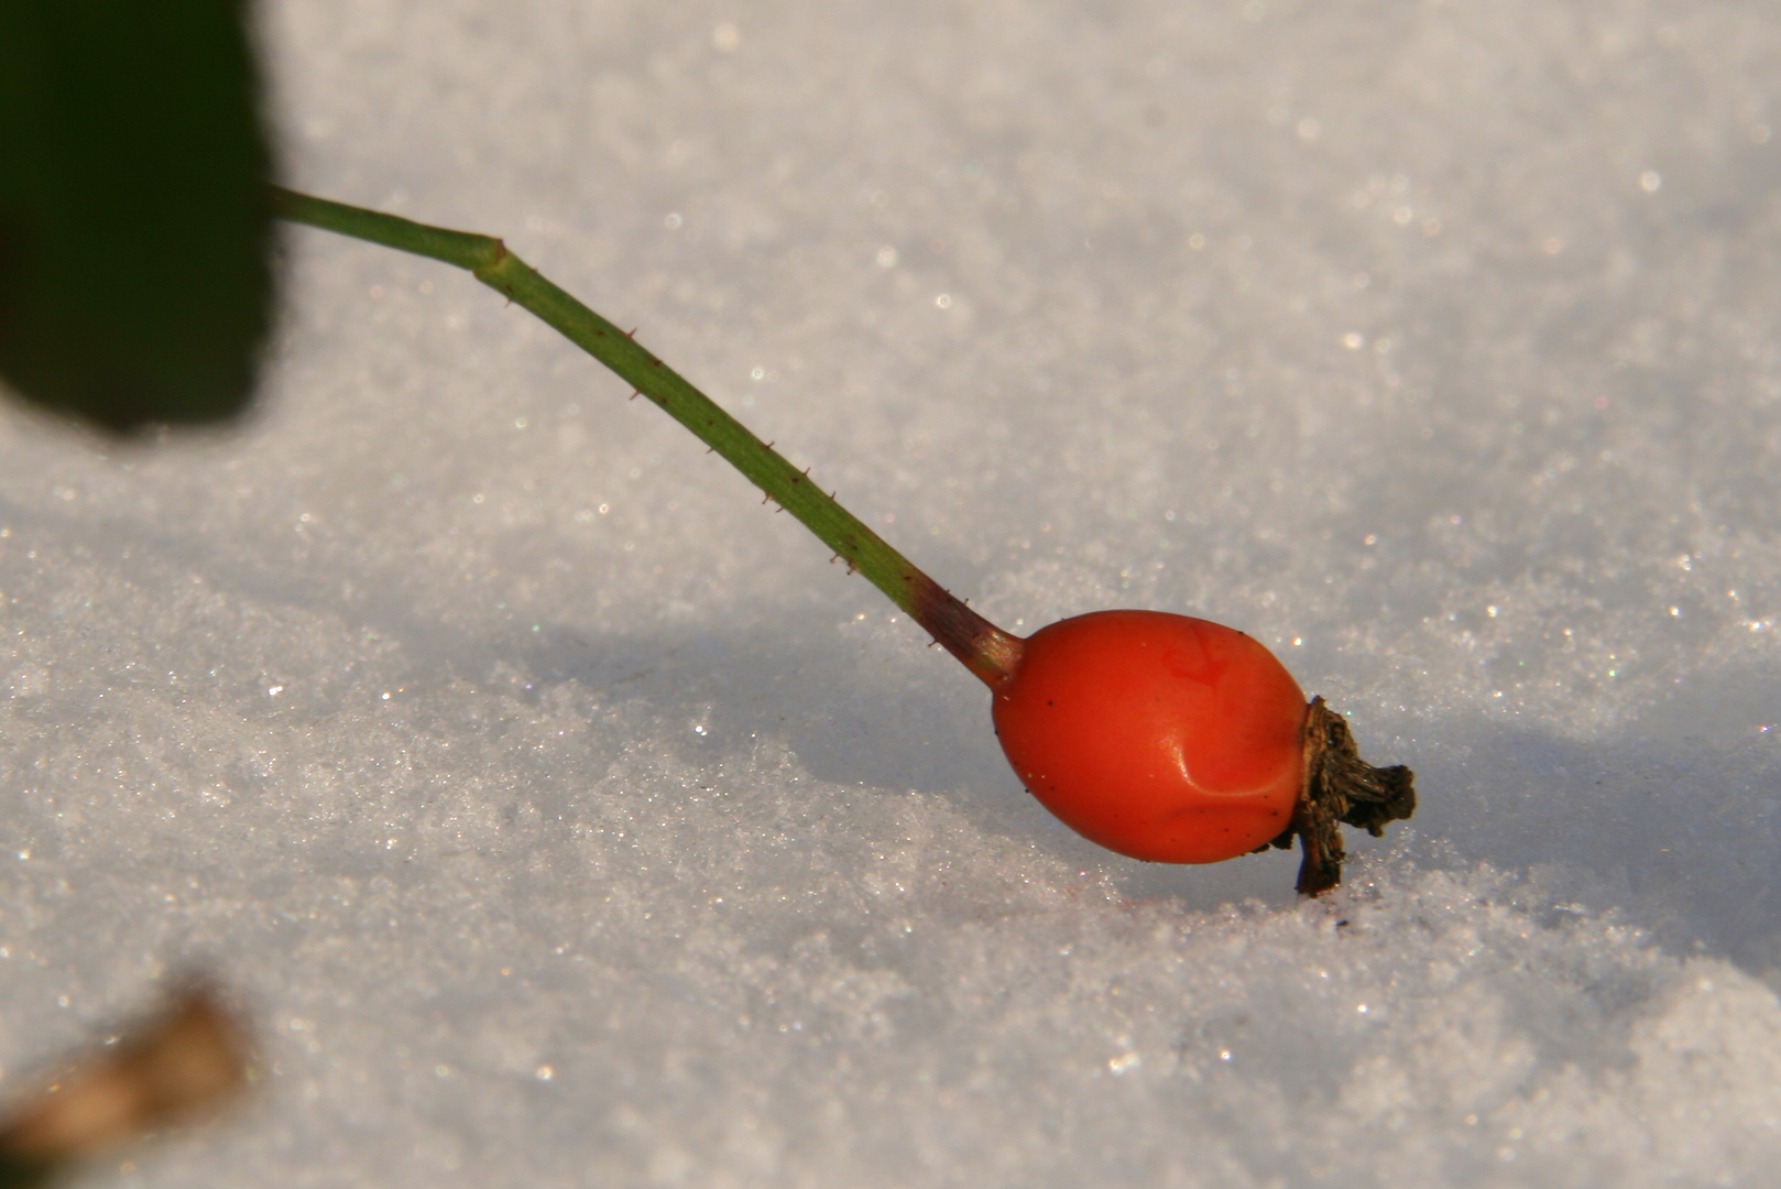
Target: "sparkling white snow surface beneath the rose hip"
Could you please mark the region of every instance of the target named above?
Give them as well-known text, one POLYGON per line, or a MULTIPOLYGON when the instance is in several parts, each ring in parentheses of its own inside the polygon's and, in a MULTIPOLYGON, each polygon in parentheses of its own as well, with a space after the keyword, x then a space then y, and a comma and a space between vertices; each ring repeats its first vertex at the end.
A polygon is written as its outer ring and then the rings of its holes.
POLYGON ((1013 629, 1273 645, 1423 809, 1156 868, 468 276, 287 235, 265 410, 0 412, 0 1062, 207 963, 144 1185, 1761 1185, 1765 0, 281 0, 287 178, 504 234, 1013 629))

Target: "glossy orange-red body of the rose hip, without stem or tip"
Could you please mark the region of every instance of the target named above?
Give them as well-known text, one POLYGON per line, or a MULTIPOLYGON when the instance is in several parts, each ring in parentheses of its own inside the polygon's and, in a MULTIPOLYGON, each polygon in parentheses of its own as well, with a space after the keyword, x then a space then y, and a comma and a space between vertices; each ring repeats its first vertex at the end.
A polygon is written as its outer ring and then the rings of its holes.
POLYGON ((1051 624, 1026 640, 992 715, 1040 804, 1134 859, 1218 863, 1293 820, 1305 695, 1232 627, 1163 611, 1051 624))

